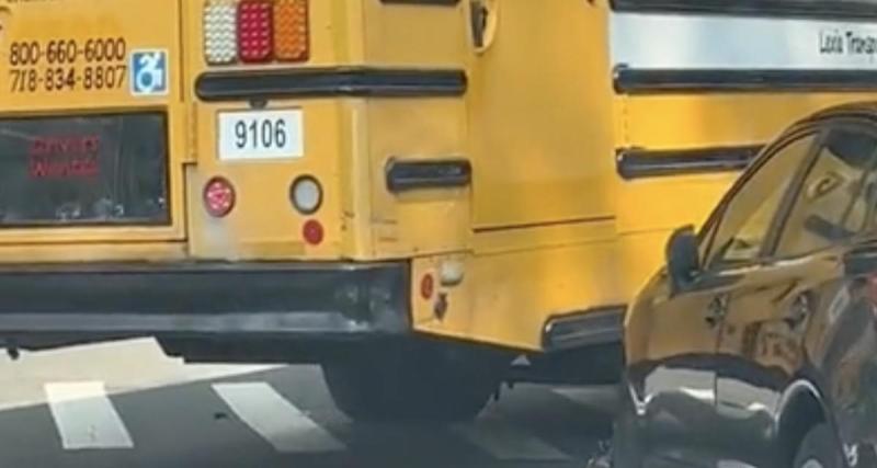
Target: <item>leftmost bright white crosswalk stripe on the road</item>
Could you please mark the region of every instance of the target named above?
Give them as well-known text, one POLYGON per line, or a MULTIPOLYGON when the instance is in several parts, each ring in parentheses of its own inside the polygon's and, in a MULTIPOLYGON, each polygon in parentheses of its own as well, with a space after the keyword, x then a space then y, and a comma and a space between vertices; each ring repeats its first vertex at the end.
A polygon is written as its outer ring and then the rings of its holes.
POLYGON ((134 447, 103 383, 47 384, 44 389, 65 449, 134 447))

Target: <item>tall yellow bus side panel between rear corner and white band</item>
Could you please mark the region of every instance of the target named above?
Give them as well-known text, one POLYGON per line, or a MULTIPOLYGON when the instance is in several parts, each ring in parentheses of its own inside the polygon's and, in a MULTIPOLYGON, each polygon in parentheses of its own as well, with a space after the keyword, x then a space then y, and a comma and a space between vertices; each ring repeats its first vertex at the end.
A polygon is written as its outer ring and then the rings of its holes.
MULTIPOLYGON (((414 297, 414 327, 539 350, 549 317, 625 300, 607 18, 588 2, 492 4, 493 39, 468 68, 472 253, 459 285, 414 297)), ((412 290, 445 260, 415 259, 412 290)))

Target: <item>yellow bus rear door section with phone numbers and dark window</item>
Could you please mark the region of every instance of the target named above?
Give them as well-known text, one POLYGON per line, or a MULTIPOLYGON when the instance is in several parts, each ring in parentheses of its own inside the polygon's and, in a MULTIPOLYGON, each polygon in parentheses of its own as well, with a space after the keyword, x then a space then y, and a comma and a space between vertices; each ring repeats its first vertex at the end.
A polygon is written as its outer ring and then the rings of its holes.
POLYGON ((62 7, 55 2, 0 7, 4 50, 0 118, 7 119, 8 144, 16 148, 4 161, 3 185, 32 198, 29 206, 25 199, 3 195, 0 243, 185 238, 182 164, 189 115, 183 105, 182 3, 71 0, 62 7), (161 169, 146 169, 155 171, 149 174, 130 169, 143 158, 128 155, 137 150, 126 150, 119 140, 136 128, 114 127, 137 113, 164 119, 163 129, 132 141, 143 146, 149 138, 161 139, 163 148, 146 156, 162 159, 161 169), (76 122, 67 132, 58 127, 64 118, 76 122), (77 141, 91 142, 83 147, 77 141), (130 213, 145 202, 128 199, 145 181, 132 178, 147 176, 164 186, 150 201, 161 205, 155 222, 130 213), (71 191, 82 193, 71 195, 71 191))

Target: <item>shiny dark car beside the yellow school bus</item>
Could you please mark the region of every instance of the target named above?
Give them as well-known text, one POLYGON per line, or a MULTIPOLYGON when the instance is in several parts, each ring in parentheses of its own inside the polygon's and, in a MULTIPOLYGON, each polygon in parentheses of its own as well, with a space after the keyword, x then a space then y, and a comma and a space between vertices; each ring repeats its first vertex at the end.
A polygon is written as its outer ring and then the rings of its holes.
POLYGON ((770 144, 628 310, 612 466, 877 466, 877 103, 770 144))

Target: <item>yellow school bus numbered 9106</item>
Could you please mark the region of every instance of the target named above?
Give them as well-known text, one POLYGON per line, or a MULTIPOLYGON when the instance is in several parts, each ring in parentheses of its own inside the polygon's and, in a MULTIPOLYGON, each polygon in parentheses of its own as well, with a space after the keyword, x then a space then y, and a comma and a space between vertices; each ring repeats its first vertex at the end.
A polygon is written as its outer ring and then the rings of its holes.
POLYGON ((874 23, 874 0, 0 0, 2 344, 319 363, 355 419, 611 381, 670 230, 785 125, 873 98, 874 23))

